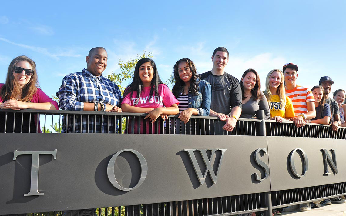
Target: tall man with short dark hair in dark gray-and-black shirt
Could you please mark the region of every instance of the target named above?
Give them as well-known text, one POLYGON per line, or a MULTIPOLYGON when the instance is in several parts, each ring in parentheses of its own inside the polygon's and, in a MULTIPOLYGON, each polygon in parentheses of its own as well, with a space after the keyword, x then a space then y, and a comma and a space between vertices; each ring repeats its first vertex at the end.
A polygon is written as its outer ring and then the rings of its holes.
POLYGON ((222 129, 232 131, 242 113, 242 90, 238 79, 225 72, 228 57, 225 47, 216 48, 211 56, 213 62, 211 71, 200 76, 211 85, 209 116, 216 116, 226 121, 222 129))

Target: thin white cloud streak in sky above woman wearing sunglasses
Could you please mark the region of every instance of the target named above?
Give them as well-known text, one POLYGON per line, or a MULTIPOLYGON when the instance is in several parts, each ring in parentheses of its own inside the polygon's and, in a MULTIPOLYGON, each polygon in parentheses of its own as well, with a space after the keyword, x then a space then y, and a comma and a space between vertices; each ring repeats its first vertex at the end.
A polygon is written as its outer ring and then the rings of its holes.
POLYGON ((18 44, 18 43, 12 42, 10 40, 7 40, 5 38, 0 38, 0 40, 7 42, 9 44, 13 44, 13 45, 16 45, 19 47, 33 50, 37 53, 42 53, 42 54, 47 55, 47 56, 49 56, 53 59, 56 59, 56 60, 59 60, 59 57, 79 57, 80 56, 79 54, 75 54, 75 51, 71 50, 71 49, 59 50, 57 53, 51 53, 46 48, 29 46, 29 45, 25 45, 25 44, 18 44))

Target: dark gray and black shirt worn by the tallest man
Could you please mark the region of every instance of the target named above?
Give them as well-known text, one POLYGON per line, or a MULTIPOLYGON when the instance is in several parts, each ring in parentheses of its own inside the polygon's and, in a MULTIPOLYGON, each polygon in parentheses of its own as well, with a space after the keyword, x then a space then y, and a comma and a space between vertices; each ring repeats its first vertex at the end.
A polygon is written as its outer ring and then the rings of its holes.
POLYGON ((237 78, 227 73, 216 76, 211 71, 200 77, 211 85, 211 110, 228 115, 233 107, 242 108, 242 90, 237 78))

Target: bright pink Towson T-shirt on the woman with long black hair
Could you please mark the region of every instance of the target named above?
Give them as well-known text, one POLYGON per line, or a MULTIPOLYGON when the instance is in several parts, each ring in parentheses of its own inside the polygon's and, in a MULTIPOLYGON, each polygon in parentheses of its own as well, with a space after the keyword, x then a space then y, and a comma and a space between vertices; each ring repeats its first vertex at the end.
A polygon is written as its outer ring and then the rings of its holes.
MULTIPOLYGON (((158 96, 151 96, 149 97, 150 94, 150 86, 149 87, 144 87, 142 92, 139 95, 139 99, 137 101, 137 92, 134 91, 132 94, 132 97, 130 97, 130 94, 127 94, 124 99, 122 100, 121 104, 123 103, 127 103, 130 106, 136 106, 136 107, 144 107, 144 108, 159 108, 159 107, 171 107, 173 104, 179 104, 179 101, 176 100, 176 98, 174 97, 174 95, 172 94, 171 90, 167 87, 167 85, 165 84, 160 84, 158 85, 158 96)), ((148 119, 147 119, 148 121, 148 119)), ((156 131, 154 124, 152 124, 152 133, 161 133, 160 130, 160 121, 159 119, 157 119, 156 121, 158 121, 158 131, 156 131)), ((135 133, 137 133, 137 121, 135 121, 135 133)), ((146 127, 146 133, 149 133, 149 125, 151 123, 147 123, 147 127, 146 127)), ((144 120, 143 118, 141 118, 140 121, 140 133, 144 133, 143 130, 143 125, 144 125, 144 120)), ((131 121, 129 121, 129 125, 128 125, 128 133, 130 133, 130 129, 131 129, 131 121)))

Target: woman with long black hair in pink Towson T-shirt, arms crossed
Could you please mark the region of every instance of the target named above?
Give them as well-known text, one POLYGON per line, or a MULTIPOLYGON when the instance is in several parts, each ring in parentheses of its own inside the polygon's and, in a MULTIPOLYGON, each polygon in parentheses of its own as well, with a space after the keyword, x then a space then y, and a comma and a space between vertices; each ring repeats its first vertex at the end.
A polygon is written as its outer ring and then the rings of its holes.
POLYGON ((150 58, 140 59, 135 66, 133 81, 122 96, 122 112, 148 113, 144 119, 155 122, 160 116, 165 120, 166 115, 177 114, 178 103, 158 76, 155 62, 150 58))

